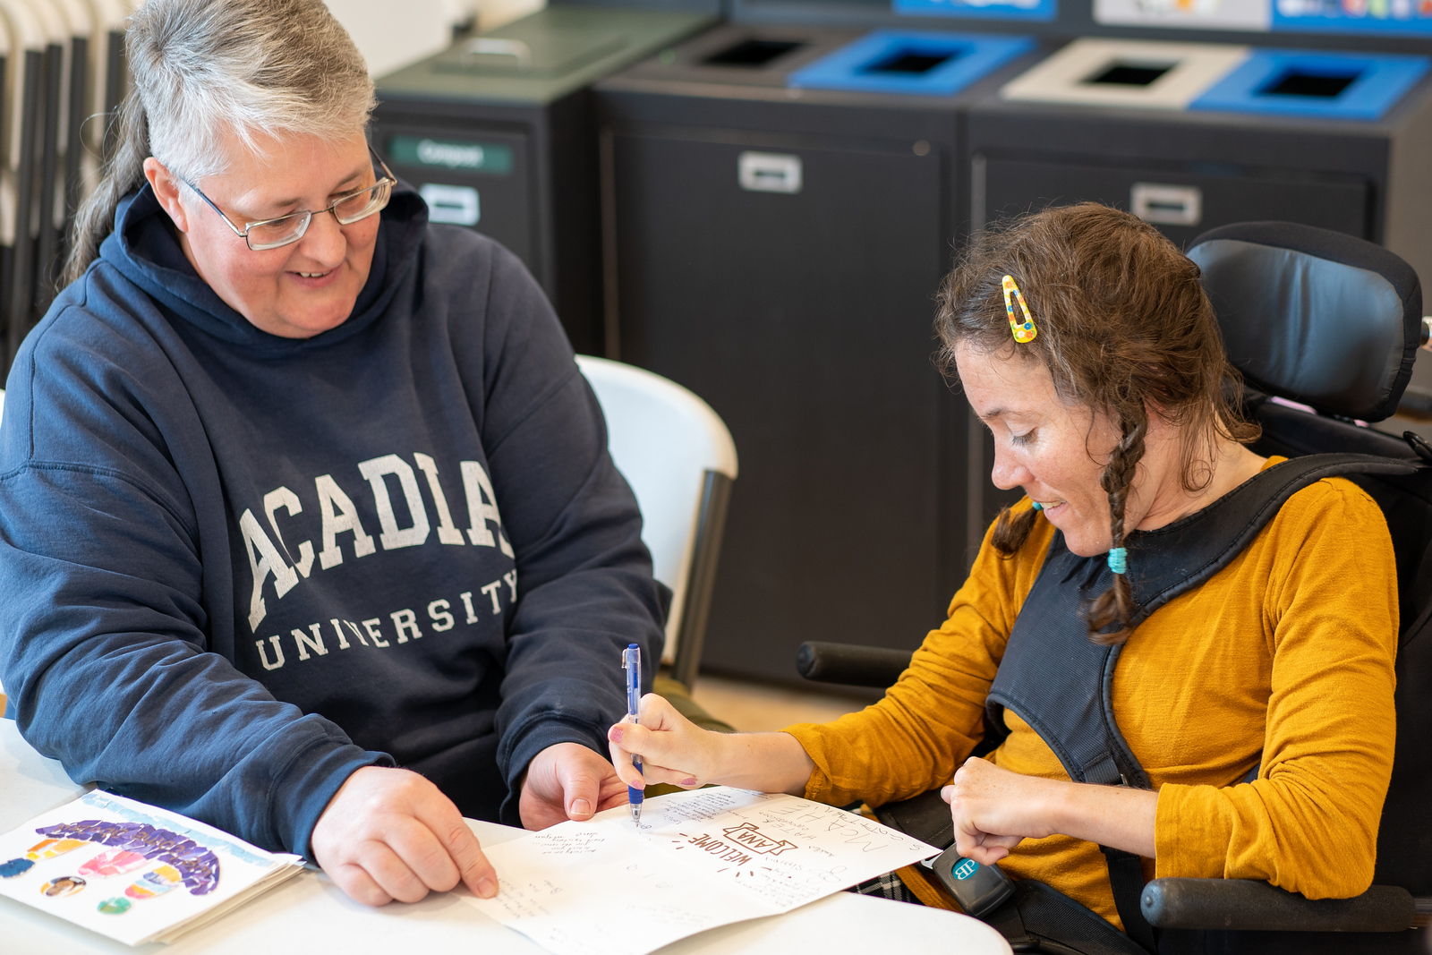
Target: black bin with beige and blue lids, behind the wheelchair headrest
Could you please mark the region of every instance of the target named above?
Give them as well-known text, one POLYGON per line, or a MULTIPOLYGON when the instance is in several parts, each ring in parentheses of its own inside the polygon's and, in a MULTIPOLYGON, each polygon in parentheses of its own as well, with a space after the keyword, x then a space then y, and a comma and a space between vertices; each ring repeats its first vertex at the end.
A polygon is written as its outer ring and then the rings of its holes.
MULTIPOLYGON (((971 216, 978 228, 1094 200, 1179 245, 1282 219, 1380 242, 1432 281, 1426 66, 1372 52, 1075 42, 969 110, 971 216), (1232 60, 1180 100, 1157 84, 1184 69, 1181 49, 1232 60)), ((1432 385, 1432 368, 1419 362, 1413 381, 1432 385)))

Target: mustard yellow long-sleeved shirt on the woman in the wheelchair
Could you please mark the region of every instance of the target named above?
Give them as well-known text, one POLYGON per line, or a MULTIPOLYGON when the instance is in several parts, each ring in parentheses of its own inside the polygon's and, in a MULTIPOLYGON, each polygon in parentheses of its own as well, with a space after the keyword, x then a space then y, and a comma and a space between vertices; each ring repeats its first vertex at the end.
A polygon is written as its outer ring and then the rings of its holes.
MULTIPOLYGON (((786 729, 816 765, 808 799, 878 806, 949 782, 981 739, 985 696, 1053 535, 1040 517, 1002 558, 987 534, 949 619, 884 700, 786 729)), ((1342 478, 1295 494, 1232 564, 1151 614, 1113 686, 1118 727, 1158 792, 1146 872, 1266 879, 1315 899, 1366 889, 1392 773, 1396 646, 1388 527, 1342 478), (1257 780, 1240 783, 1254 766, 1257 780)), ((1022 719, 1005 712, 1005 724, 988 759, 1068 779, 1022 719)), ((1001 866, 1120 925, 1094 843, 1025 839, 1001 866)))

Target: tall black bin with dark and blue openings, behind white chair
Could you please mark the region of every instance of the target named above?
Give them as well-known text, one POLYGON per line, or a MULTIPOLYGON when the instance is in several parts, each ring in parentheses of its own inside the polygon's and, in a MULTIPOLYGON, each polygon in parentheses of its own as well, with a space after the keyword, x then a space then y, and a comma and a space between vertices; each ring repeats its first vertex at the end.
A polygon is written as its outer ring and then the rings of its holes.
POLYGON ((964 105, 1034 44, 957 93, 862 92, 978 66, 962 43, 727 26, 596 86, 609 354, 709 401, 740 452, 703 669, 795 683, 803 640, 912 649, 964 578, 981 435, 931 364, 934 296, 964 105), (835 67, 851 89, 803 86, 835 67))

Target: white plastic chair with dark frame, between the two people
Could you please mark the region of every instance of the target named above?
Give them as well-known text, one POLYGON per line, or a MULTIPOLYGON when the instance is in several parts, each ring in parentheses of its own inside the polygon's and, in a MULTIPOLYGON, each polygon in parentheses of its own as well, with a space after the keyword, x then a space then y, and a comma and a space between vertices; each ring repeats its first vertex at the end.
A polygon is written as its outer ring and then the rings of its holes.
POLYGON ((607 450, 642 508, 656 578, 672 588, 666 650, 672 679, 696 682, 706 641, 736 445, 710 405, 649 371, 577 355, 607 420, 607 450))

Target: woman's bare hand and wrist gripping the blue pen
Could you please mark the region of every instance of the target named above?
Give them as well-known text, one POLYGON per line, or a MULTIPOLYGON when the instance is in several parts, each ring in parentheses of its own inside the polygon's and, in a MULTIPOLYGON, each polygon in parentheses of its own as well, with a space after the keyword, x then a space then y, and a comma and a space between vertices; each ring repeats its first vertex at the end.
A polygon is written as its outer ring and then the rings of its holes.
POLYGON ((647 693, 640 724, 623 720, 607 730, 611 765, 627 786, 672 783, 683 789, 720 783, 759 792, 805 792, 815 763, 789 733, 713 733, 647 693), (644 775, 632 756, 644 762, 644 775))

